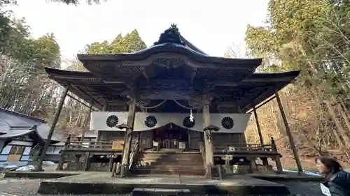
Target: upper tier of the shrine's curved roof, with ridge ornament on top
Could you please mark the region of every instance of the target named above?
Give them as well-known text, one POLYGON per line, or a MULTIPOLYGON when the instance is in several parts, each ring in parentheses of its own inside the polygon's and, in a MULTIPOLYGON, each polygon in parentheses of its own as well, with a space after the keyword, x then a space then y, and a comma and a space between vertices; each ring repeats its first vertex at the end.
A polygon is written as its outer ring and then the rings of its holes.
POLYGON ((209 56, 183 38, 174 24, 145 50, 128 54, 78 54, 78 59, 87 70, 105 81, 116 80, 113 75, 152 77, 153 70, 159 66, 167 69, 181 67, 188 73, 196 72, 199 77, 235 75, 235 80, 241 80, 251 75, 262 62, 262 59, 209 56))

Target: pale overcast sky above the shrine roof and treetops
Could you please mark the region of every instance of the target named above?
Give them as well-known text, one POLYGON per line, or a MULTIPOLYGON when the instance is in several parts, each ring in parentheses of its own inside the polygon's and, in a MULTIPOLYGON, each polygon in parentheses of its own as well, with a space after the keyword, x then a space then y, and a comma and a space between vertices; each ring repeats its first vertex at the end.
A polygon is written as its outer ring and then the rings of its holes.
POLYGON ((212 56, 223 56, 231 43, 244 40, 247 24, 265 20, 268 0, 109 0, 89 6, 66 6, 45 0, 18 0, 11 7, 25 17, 34 38, 54 33, 62 60, 86 44, 113 40, 118 33, 139 31, 147 45, 176 23, 181 34, 212 56))

